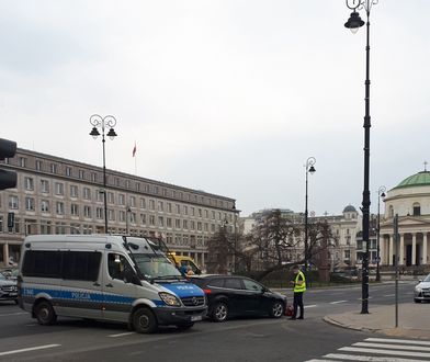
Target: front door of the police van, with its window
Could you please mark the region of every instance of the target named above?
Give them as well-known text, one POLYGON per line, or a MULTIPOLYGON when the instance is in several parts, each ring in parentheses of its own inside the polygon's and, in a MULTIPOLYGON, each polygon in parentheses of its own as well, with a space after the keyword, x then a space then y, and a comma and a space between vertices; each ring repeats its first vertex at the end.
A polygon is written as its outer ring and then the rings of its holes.
POLYGON ((127 323, 137 296, 137 285, 129 280, 134 269, 124 254, 115 251, 105 251, 104 260, 103 319, 127 323))

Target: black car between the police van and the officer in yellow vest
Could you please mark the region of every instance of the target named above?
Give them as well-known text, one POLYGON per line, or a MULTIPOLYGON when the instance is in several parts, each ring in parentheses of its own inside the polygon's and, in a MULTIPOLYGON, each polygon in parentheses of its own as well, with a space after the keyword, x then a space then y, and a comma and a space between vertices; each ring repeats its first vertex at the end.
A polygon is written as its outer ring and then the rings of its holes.
POLYGON ((225 321, 233 316, 269 315, 280 318, 286 297, 270 291, 252 279, 238 275, 193 275, 190 281, 207 297, 207 316, 225 321))

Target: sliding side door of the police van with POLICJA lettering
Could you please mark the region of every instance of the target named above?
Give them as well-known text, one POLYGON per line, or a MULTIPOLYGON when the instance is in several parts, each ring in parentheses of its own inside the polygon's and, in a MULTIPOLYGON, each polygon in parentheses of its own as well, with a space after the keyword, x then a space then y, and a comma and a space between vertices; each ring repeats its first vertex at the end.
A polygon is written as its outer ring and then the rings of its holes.
POLYGON ((60 297, 56 302, 58 315, 102 318, 102 252, 64 251, 60 297))

